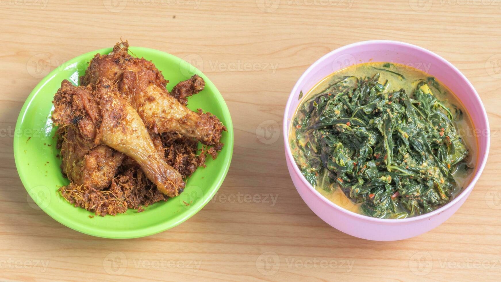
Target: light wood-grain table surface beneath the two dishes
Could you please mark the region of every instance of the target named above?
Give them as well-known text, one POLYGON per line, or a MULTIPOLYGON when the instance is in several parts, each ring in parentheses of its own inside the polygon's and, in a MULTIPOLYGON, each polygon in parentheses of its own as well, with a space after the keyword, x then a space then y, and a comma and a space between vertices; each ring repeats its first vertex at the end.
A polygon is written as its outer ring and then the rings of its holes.
POLYGON ((0 43, 0 280, 501 279, 501 1, 0 0, 0 43), (35 85, 120 38, 195 62, 235 129, 218 196, 177 227, 129 240, 81 234, 34 208, 13 156, 15 122, 35 85), (280 130, 309 65, 373 39, 450 61, 491 126, 487 166, 464 205, 396 242, 358 239, 318 218, 289 177, 280 130))

